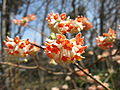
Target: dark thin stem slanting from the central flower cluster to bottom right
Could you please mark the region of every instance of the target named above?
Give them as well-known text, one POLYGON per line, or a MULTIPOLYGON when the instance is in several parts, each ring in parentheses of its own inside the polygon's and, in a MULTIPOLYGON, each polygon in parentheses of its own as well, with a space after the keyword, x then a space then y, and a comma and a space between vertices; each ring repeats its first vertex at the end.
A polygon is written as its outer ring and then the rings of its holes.
POLYGON ((95 82, 100 84, 102 87, 104 87, 106 90, 110 90, 108 87, 106 87, 101 81, 96 80, 92 75, 88 74, 87 72, 84 71, 82 67, 80 67, 77 63, 74 63, 74 65, 80 69, 82 72, 84 72, 87 76, 89 76, 91 79, 93 79, 95 82))

